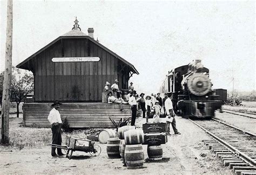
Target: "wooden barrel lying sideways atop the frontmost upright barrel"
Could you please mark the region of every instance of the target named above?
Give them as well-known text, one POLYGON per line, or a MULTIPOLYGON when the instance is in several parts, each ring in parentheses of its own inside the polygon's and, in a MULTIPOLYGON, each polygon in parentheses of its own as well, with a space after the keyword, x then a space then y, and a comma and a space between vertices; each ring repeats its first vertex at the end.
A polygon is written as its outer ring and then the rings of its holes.
POLYGON ((144 133, 142 129, 133 129, 124 132, 124 140, 126 145, 144 143, 144 133))

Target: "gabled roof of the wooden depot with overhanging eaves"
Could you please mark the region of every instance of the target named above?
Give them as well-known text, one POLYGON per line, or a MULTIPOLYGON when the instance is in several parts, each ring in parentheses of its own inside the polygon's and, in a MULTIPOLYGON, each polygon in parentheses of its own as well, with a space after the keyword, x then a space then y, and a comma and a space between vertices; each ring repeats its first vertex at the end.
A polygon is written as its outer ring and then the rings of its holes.
POLYGON ((20 64, 18 64, 16 67, 17 68, 24 68, 23 65, 26 64, 26 62, 28 62, 29 60, 31 60, 32 58, 34 58, 37 54, 43 52, 46 48, 50 47, 51 45, 55 44, 57 41, 59 41, 60 39, 65 39, 65 38, 86 38, 89 39, 90 41, 92 41, 93 43, 95 43, 96 45, 98 45, 99 47, 102 47, 105 51, 111 53, 112 55, 114 55, 115 57, 117 57, 119 60, 121 60, 122 62, 124 62, 126 65, 128 65, 131 68, 131 71, 133 73, 139 74, 139 72, 137 71, 137 69, 128 61, 126 61, 125 59, 123 59, 122 57, 120 57, 118 54, 112 52, 111 50, 109 50, 109 48, 103 46, 102 44, 100 44, 98 41, 94 40, 93 38, 87 36, 85 33, 83 33, 82 31, 78 30, 78 29, 73 29, 65 34, 63 34, 62 36, 56 38, 55 40, 53 40, 51 43, 49 43, 48 45, 44 46, 43 48, 41 48, 41 50, 37 51, 36 53, 32 54, 30 57, 28 57, 27 59, 25 59, 24 61, 22 61, 20 64))

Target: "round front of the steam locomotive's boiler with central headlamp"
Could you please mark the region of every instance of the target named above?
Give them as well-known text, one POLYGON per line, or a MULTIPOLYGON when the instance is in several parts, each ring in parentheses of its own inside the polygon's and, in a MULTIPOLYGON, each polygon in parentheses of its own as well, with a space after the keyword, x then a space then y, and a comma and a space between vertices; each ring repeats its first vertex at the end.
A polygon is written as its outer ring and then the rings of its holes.
POLYGON ((212 83, 203 73, 194 73, 187 81, 187 88, 197 96, 203 96, 210 92, 212 83))

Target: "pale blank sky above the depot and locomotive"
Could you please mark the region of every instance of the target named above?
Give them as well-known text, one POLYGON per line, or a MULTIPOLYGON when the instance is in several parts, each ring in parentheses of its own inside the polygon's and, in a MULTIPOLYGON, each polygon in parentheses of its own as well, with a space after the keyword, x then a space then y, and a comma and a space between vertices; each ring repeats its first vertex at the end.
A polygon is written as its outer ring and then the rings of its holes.
MULTIPOLYGON (((0 71, 6 5, 0 0, 0 71)), ((12 62, 17 65, 70 31, 84 33, 133 64, 137 92, 157 93, 171 69, 194 59, 210 69, 213 88, 256 90, 253 1, 14 1, 12 62)))

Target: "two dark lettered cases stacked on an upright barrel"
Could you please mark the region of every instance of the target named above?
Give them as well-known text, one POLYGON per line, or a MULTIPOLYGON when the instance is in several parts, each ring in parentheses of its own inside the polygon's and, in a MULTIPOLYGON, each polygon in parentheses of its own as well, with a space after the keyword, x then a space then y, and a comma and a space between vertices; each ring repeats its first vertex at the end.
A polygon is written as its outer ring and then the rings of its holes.
POLYGON ((147 156, 150 161, 159 161, 163 158, 161 144, 167 142, 166 123, 143 124, 144 144, 147 144, 147 156))

